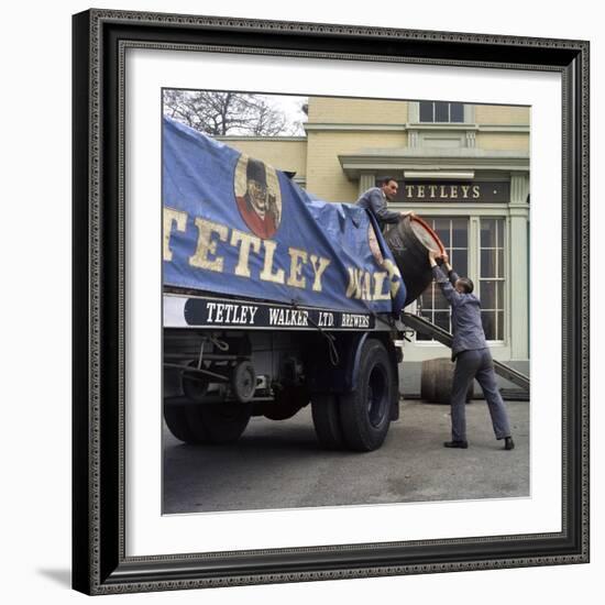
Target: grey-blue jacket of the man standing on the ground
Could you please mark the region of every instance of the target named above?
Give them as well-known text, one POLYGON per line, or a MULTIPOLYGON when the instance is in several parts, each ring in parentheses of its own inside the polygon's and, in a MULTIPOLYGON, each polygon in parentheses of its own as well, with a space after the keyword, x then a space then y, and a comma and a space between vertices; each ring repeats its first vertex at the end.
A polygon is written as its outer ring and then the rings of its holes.
POLYGON ((449 279, 439 266, 432 267, 432 275, 436 278, 443 296, 452 306, 452 360, 462 351, 486 349, 485 332, 481 322, 481 301, 474 294, 460 294, 453 287, 458 274, 450 272, 449 279))

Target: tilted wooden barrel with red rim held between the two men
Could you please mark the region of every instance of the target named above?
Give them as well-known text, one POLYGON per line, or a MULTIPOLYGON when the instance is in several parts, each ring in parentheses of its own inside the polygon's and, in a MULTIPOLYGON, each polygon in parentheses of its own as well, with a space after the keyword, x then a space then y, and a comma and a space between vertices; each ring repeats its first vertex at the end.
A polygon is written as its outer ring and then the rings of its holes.
POLYGON ((429 250, 442 253, 444 248, 437 233, 419 217, 406 217, 392 226, 385 233, 385 240, 406 284, 407 306, 431 283, 429 250))

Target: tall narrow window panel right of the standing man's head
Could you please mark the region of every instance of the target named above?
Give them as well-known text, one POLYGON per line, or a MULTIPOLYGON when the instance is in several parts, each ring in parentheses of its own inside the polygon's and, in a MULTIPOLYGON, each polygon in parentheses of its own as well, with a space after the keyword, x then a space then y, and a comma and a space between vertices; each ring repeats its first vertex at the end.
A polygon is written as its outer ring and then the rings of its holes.
POLYGON ((504 219, 481 219, 481 319, 487 340, 504 340, 504 219))

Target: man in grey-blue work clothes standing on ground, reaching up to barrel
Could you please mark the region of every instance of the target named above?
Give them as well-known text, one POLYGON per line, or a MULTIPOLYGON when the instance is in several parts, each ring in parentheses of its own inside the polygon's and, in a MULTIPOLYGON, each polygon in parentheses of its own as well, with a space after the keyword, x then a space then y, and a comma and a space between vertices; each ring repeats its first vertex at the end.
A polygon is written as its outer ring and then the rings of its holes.
POLYGON ((510 437, 508 414, 499 394, 492 354, 485 341, 481 322, 481 302, 473 294, 473 282, 469 277, 459 277, 449 263, 447 254, 429 251, 432 275, 443 296, 452 307, 452 361, 455 361, 451 395, 452 440, 446 441, 446 448, 466 449, 466 392, 473 378, 476 378, 492 417, 496 439, 504 439, 504 449, 515 447, 510 437), (443 258, 448 277, 437 264, 443 258))

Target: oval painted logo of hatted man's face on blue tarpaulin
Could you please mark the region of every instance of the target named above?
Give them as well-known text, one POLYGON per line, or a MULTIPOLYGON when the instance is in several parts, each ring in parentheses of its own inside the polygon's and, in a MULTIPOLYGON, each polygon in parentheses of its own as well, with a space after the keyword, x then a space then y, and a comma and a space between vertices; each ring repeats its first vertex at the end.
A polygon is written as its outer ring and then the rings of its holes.
POLYGON ((233 185, 235 201, 248 228, 263 240, 271 238, 282 221, 282 190, 275 169, 242 154, 233 185))

